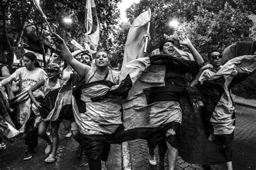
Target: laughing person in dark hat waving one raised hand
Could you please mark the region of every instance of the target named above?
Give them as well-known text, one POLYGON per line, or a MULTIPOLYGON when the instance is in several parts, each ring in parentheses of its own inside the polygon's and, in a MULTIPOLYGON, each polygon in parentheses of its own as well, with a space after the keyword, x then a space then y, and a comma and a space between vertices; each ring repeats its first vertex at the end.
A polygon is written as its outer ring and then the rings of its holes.
MULTIPOLYGON (((191 62, 194 60, 191 64, 198 64, 201 65, 204 63, 203 58, 199 54, 199 52, 195 49, 195 47, 192 45, 190 39, 187 37, 180 37, 179 38, 180 44, 186 45, 187 48, 190 50, 191 54, 181 52, 177 49, 176 46, 174 46, 174 42, 172 40, 166 40, 165 42, 161 43, 159 46, 160 53, 163 53, 165 55, 171 55, 174 57, 178 57, 181 60, 191 60, 191 62), (196 63, 195 63, 196 62, 196 63)), ((179 69, 173 69, 171 70, 174 75, 179 76, 170 76, 166 77, 165 86, 163 87, 151 87, 150 90, 150 96, 151 102, 158 101, 158 98, 163 98, 161 101, 159 101, 158 105, 161 104, 168 104, 169 110, 166 110, 166 114, 169 115, 168 122, 172 125, 170 130, 166 132, 166 145, 168 149, 168 164, 169 169, 174 169, 176 166, 176 160, 178 157, 178 132, 180 131, 181 126, 181 119, 182 119, 182 113, 180 108, 180 98, 183 96, 185 91, 185 73, 183 70, 179 69), (160 97, 161 96, 161 97, 160 97)), ((148 147, 149 147, 149 162, 151 165, 156 165, 156 156, 154 154, 154 148, 158 145, 158 143, 154 141, 148 141, 148 147)))

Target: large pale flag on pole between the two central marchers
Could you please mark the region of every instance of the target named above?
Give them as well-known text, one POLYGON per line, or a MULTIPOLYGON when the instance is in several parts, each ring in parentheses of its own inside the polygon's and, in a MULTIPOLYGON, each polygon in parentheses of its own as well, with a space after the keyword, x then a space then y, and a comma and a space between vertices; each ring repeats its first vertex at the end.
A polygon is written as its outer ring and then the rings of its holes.
POLYGON ((124 49, 124 59, 122 69, 124 65, 131 62, 134 59, 144 57, 144 35, 147 32, 147 25, 150 21, 150 10, 147 10, 140 14, 132 23, 127 35, 127 40, 124 49))

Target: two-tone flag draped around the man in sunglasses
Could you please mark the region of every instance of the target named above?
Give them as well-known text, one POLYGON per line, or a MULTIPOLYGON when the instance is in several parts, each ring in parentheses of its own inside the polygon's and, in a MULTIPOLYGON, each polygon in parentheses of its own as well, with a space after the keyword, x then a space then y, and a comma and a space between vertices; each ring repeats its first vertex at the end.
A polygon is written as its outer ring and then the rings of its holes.
POLYGON ((235 128, 235 113, 230 89, 256 70, 256 56, 240 56, 229 60, 201 85, 207 98, 204 124, 211 134, 231 134, 235 128), (224 119, 225 118, 225 119, 224 119))

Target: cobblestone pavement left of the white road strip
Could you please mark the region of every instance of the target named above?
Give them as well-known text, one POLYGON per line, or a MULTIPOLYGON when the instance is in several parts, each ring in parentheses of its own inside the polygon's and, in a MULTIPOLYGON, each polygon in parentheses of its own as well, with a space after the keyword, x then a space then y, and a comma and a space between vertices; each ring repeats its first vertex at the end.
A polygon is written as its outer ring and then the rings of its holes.
MULTIPOLYGON (((58 159, 53 164, 47 164, 44 159, 46 142, 41 138, 38 145, 38 152, 33 155, 30 160, 23 160, 24 151, 26 149, 24 140, 13 143, 6 142, 7 149, 0 152, 0 169, 89 169, 89 166, 80 167, 80 160, 76 158, 78 143, 71 137, 65 138, 64 126, 61 124, 59 128, 59 147, 57 151, 58 159)), ((108 169, 122 169, 120 145, 111 145, 109 160, 106 163, 108 169)))

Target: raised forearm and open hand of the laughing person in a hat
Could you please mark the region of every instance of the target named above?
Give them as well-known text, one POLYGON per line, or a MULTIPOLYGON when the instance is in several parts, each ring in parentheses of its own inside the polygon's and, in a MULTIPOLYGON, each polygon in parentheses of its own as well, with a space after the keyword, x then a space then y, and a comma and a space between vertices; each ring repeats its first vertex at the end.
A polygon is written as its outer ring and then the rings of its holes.
POLYGON ((198 65, 204 64, 203 57, 201 57, 197 49, 193 46, 190 39, 188 39, 187 37, 179 37, 179 40, 180 40, 180 44, 187 46, 188 50, 190 50, 195 62, 197 62, 198 65))

